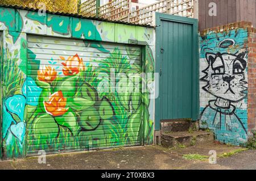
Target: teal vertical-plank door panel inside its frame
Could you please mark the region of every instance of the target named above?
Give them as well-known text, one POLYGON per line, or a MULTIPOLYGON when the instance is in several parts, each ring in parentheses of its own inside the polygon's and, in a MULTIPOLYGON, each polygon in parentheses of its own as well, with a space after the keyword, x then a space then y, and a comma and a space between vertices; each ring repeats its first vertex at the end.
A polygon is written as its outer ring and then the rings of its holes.
POLYGON ((190 118, 192 25, 162 21, 161 120, 190 118))

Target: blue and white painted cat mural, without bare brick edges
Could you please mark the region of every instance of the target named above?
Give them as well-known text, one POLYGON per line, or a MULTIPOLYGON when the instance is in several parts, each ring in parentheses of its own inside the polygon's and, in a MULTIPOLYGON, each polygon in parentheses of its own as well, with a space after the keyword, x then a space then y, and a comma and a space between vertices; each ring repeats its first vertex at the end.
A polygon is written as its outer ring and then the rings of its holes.
POLYGON ((247 48, 243 29, 201 39, 200 127, 233 145, 247 140, 247 48))

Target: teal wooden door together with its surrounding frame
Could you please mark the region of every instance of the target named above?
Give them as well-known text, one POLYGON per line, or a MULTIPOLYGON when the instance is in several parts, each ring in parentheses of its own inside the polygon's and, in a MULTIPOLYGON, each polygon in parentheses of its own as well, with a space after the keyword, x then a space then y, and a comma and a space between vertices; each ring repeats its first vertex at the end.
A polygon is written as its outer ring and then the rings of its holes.
POLYGON ((156 120, 197 119, 197 20, 158 14, 156 120))

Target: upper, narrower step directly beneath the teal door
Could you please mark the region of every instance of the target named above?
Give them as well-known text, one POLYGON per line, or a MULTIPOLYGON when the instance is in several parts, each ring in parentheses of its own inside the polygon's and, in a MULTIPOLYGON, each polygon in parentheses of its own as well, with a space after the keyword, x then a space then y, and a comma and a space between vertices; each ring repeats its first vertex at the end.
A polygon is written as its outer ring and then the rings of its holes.
POLYGON ((162 132, 185 132, 197 129, 196 122, 191 120, 168 120, 161 121, 162 132))

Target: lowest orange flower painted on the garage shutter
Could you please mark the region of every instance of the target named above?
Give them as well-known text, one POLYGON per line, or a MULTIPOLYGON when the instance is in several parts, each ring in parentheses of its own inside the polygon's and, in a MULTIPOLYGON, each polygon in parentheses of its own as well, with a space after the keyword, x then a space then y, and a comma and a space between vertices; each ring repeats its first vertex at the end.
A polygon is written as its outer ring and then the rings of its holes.
POLYGON ((48 101, 44 101, 44 108, 52 116, 61 116, 68 111, 68 108, 65 108, 66 104, 67 99, 58 91, 52 94, 48 101))

